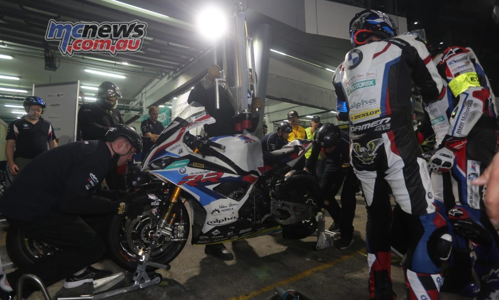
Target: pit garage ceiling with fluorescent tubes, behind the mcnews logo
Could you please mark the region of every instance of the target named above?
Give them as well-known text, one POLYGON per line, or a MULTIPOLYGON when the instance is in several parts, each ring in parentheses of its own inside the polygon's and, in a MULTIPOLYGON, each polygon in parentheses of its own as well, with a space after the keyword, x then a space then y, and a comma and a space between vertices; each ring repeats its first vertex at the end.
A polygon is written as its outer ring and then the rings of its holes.
MULTIPOLYGON (((16 115, 9 111, 19 109, 7 108, 4 104, 18 105, 19 100, 31 95, 33 84, 80 80, 82 85, 96 87, 109 80, 120 87, 125 98, 134 98, 154 78, 174 75, 206 51, 210 43, 199 37, 193 23, 192 10, 182 1, 0 0, 0 54, 13 57, 0 59, 0 75, 20 78, 0 78, 0 87, 28 91, 0 90, 0 118, 6 122, 15 119, 16 115), (69 57, 60 55, 57 41, 44 39, 50 19, 99 23, 139 19, 148 26, 138 53, 116 56, 84 53, 69 57), (55 53, 56 71, 45 70, 47 50, 55 53), (90 74, 84 69, 117 73, 126 78, 90 74)), ((95 93, 83 91, 87 97, 95 93)))

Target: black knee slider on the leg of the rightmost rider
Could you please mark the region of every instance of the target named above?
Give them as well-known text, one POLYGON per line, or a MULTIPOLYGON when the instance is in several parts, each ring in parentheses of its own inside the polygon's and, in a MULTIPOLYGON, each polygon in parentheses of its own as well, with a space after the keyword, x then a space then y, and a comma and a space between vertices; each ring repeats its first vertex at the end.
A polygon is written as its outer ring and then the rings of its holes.
POLYGON ((487 229, 471 219, 463 209, 452 208, 449 210, 449 218, 454 231, 473 243, 479 245, 490 245, 491 236, 487 229))

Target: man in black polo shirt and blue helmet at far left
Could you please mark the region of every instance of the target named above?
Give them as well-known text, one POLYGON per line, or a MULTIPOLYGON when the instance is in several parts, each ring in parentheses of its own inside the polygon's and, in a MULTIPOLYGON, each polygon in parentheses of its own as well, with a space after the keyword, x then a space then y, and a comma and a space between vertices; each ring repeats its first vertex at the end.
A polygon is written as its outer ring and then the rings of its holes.
POLYGON ((41 115, 46 107, 45 101, 39 97, 27 97, 22 103, 27 115, 10 123, 5 140, 5 156, 7 156, 7 184, 33 158, 57 146, 55 133, 50 122, 43 120, 41 115))

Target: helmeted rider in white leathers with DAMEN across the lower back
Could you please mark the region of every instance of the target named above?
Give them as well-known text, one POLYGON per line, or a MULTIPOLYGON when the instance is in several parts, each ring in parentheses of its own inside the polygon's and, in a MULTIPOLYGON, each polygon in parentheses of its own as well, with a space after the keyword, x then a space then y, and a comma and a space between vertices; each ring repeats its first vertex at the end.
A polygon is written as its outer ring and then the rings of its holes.
POLYGON ((349 117, 352 165, 367 204, 370 298, 395 299, 390 279, 391 188, 410 230, 403 263, 408 299, 436 300, 442 285, 440 263, 449 256, 451 236, 432 204, 410 99, 413 82, 426 103, 441 99, 442 80, 417 36, 397 36, 393 20, 380 11, 357 13, 350 21, 350 37, 355 48, 336 69, 333 84, 338 117, 349 117))

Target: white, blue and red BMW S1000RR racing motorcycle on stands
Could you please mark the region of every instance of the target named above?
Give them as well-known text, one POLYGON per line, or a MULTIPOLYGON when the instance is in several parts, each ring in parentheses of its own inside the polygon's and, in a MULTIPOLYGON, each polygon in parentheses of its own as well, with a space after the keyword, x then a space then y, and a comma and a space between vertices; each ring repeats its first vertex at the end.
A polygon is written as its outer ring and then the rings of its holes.
MULTIPOLYGON (((311 176, 293 170, 312 141, 262 152, 251 135, 207 139, 189 133, 214 122, 204 108, 187 107, 144 156, 142 171, 127 180, 135 189, 127 197, 147 204, 140 217, 109 220, 107 253, 121 268, 135 270, 146 248, 152 262, 168 264, 184 248, 191 228, 193 244, 279 231, 284 238, 301 239, 316 230, 320 188, 311 176)), ((28 240, 20 244, 36 252, 28 240)))

